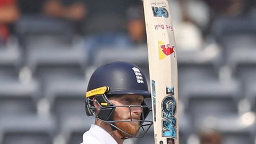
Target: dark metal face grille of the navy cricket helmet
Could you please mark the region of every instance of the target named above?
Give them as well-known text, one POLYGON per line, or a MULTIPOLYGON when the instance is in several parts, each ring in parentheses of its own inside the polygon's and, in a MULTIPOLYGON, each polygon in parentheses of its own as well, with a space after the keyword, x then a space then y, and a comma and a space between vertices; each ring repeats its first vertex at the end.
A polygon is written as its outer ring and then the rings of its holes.
MULTIPOLYGON (((97 99, 97 101, 93 101, 90 98, 87 98, 87 103, 86 105, 86 111, 90 111, 90 114, 93 115, 95 118, 99 119, 102 122, 106 122, 109 125, 111 125, 111 127, 114 130, 118 130, 119 132, 122 132, 126 135, 127 138, 142 138, 147 131, 150 129, 151 125, 153 125, 153 121, 146 119, 146 117, 148 116, 148 114, 151 111, 151 107, 150 106, 146 106, 145 101, 142 102, 141 106, 138 105, 124 105, 124 106, 115 106, 113 103, 111 103, 108 98, 106 97, 105 94, 103 95, 97 95, 95 96, 95 98, 97 99), (104 101, 107 102, 107 105, 100 105, 100 103, 104 101), (99 106, 101 107, 94 107, 93 106, 93 102, 97 102, 99 106), (138 119, 120 119, 120 120, 113 120, 113 112, 116 108, 121 108, 121 107, 125 107, 125 108, 129 108, 130 111, 130 117, 132 117, 132 112, 131 109, 134 107, 139 107, 142 109, 142 113, 140 118, 138 119), (99 109, 99 112, 96 113, 95 109, 99 109), (120 127, 116 126, 117 123, 122 123, 122 122, 138 122, 139 126, 137 131, 134 134, 128 133, 125 130, 122 130, 120 127)), ((126 139, 126 137, 124 139, 126 139)))

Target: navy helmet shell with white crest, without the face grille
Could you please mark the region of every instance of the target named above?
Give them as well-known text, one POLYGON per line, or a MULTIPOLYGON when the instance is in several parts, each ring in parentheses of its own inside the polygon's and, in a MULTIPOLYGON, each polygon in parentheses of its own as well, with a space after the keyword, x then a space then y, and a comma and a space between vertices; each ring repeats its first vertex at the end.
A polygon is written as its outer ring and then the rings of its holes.
POLYGON ((107 63, 94 71, 87 91, 108 86, 105 94, 140 94, 150 97, 148 85, 142 70, 129 62, 115 61, 107 63))

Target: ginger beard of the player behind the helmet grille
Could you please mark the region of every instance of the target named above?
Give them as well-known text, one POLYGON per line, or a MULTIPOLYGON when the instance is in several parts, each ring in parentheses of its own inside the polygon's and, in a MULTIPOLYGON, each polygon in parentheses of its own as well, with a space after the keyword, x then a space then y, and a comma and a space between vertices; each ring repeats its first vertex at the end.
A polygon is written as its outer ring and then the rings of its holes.
MULTIPOLYGON (((130 114, 125 116, 125 117, 121 117, 119 116, 117 113, 114 113, 113 114, 113 120, 114 121, 119 121, 119 120, 131 120, 131 119, 138 119, 139 116, 135 115, 135 114, 132 114, 132 117, 130 117, 130 114)), ((124 137, 124 138, 132 138, 131 135, 135 136, 135 135, 138 135, 139 132, 138 132, 138 129, 140 128, 140 122, 115 122, 115 126, 117 126, 119 129, 121 129, 122 131, 130 134, 126 134, 120 130, 117 129, 117 131, 119 132, 119 134, 124 137)))

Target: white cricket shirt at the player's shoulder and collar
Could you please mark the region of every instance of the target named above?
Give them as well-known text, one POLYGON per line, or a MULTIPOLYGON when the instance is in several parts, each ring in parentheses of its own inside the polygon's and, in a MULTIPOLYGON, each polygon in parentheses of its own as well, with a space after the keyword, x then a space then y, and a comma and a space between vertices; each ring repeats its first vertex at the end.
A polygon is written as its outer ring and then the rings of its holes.
POLYGON ((117 142, 102 127, 92 124, 90 130, 83 134, 81 144, 117 144, 117 142))

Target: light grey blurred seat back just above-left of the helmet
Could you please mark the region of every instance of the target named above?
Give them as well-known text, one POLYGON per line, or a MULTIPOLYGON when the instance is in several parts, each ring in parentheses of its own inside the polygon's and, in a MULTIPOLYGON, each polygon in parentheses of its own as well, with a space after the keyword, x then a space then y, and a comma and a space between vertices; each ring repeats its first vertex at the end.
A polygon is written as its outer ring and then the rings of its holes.
POLYGON ((86 67, 86 55, 83 49, 78 47, 42 47, 42 49, 27 52, 25 65, 36 71, 39 66, 77 66, 84 70, 86 67), (52 48, 52 49, 49 49, 52 48), (54 49, 55 48, 55 49, 54 49), (47 50, 46 50, 47 49, 47 50))

